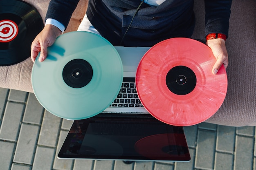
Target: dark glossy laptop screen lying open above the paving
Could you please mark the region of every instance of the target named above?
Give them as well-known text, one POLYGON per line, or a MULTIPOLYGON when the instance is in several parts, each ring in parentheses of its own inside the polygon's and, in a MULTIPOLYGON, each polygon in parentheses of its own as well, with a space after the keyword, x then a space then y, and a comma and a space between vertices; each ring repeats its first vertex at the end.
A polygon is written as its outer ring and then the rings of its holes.
POLYGON ((60 159, 189 161, 182 127, 151 115, 99 114, 75 120, 60 159))

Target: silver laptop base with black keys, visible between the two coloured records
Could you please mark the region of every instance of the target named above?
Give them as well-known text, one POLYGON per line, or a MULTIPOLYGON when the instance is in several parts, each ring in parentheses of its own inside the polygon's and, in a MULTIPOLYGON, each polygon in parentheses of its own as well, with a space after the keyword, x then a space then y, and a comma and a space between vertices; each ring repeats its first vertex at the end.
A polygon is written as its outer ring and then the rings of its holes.
POLYGON ((137 95, 135 76, 141 58, 150 47, 115 46, 115 48, 123 63, 124 80, 117 98, 103 113, 149 114, 137 95))

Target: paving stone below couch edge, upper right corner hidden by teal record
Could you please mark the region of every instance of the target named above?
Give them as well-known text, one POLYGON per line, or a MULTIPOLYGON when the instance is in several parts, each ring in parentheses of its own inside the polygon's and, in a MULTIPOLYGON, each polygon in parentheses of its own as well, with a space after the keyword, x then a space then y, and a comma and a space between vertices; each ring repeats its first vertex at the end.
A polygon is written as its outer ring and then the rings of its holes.
POLYGON ((23 117, 23 122, 38 125, 41 124, 43 110, 44 108, 38 102, 34 93, 29 93, 27 105, 25 108, 25 114, 23 117))

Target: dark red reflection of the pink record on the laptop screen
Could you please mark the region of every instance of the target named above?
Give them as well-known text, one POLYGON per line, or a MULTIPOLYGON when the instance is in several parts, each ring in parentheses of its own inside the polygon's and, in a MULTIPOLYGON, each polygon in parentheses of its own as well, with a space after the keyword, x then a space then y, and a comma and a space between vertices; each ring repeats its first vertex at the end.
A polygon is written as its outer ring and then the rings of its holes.
POLYGON ((184 134, 168 133, 144 137, 136 142, 135 150, 140 155, 153 160, 162 157, 168 157, 170 160, 187 157, 190 160, 184 134))

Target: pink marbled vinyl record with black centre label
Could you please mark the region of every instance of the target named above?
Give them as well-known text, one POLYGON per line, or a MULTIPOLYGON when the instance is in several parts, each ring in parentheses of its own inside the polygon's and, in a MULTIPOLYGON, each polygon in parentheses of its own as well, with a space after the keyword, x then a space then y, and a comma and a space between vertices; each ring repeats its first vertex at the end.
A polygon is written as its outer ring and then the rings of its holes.
POLYGON ((155 118, 174 126, 191 126, 211 117, 227 94, 227 73, 217 75, 211 49, 193 39, 159 42, 142 57, 136 73, 141 103, 155 118))

